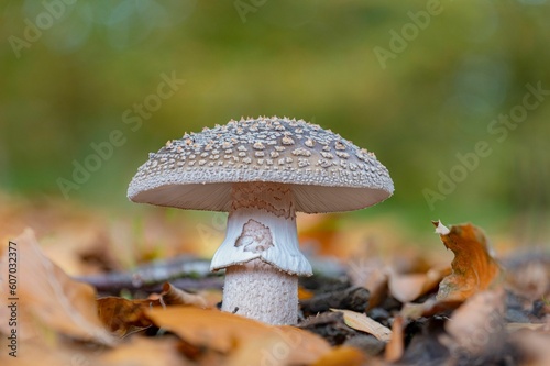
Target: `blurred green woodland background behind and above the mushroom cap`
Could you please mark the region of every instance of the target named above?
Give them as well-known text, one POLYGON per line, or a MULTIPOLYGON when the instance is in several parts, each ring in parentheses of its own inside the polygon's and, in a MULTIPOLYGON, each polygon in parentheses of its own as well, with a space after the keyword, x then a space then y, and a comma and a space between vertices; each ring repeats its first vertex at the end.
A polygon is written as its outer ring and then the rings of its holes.
POLYGON ((544 239, 546 0, 0 3, 0 190, 9 195, 131 214, 143 208, 127 187, 148 152, 205 125, 276 114, 332 129, 387 166, 394 197, 356 215, 395 214, 430 231, 430 219, 472 221, 544 239), (173 76, 185 82, 160 98, 173 76), (526 97, 526 85, 543 91, 526 97), (497 120, 510 113, 518 122, 497 120), (112 152, 90 157, 117 130, 112 152), (94 171, 76 184, 79 164, 94 171))

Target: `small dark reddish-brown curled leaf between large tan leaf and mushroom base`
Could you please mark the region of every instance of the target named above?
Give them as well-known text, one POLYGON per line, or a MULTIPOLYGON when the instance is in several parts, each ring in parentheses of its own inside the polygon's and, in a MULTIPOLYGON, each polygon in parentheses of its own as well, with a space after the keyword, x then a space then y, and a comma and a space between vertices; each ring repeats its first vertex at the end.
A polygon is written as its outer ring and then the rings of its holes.
POLYGON ((114 335, 123 337, 151 326, 144 309, 161 306, 160 300, 128 300, 106 297, 97 300, 99 319, 114 335))

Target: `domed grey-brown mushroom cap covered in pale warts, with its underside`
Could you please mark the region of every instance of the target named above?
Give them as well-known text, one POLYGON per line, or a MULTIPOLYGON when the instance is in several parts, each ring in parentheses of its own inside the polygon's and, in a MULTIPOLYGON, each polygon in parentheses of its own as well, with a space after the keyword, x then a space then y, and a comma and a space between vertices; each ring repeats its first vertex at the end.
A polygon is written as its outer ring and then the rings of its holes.
POLYGON ((133 177, 134 202, 230 211, 234 182, 292 185, 295 209, 319 213, 378 203, 394 191, 375 157, 340 135, 304 120, 231 120, 168 141, 133 177))

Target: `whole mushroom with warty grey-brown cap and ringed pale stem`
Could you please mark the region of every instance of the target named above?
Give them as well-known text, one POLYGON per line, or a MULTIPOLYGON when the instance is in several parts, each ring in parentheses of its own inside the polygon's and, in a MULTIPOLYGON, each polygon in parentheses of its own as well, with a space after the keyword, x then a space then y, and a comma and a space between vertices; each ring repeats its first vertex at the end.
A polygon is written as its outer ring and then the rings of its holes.
POLYGON ((392 196, 375 155, 319 125, 287 118, 231 120, 169 141, 128 189, 134 202, 229 212, 211 270, 226 269, 222 310, 271 324, 298 319, 296 212, 362 209, 392 196))

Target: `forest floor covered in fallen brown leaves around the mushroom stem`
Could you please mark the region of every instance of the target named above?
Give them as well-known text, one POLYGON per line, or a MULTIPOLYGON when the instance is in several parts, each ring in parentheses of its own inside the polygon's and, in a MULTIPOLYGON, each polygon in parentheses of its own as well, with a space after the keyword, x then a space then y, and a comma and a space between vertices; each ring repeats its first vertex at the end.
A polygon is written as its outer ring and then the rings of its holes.
POLYGON ((418 245, 392 218, 300 218, 315 275, 283 326, 219 310, 222 215, 3 195, 0 228, 1 365, 550 365, 549 246, 475 223, 418 245))

